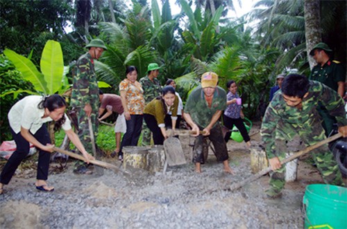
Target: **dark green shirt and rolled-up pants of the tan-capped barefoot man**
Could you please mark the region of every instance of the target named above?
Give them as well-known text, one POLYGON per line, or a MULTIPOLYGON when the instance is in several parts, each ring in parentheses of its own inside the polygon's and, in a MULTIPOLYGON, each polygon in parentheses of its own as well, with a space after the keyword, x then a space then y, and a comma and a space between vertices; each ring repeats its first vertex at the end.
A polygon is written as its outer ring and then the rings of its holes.
MULTIPOLYGON (((201 130, 210 124, 214 113, 223 111, 224 109, 226 109, 226 91, 219 86, 217 86, 216 91, 214 91, 211 107, 208 107, 201 86, 196 87, 196 89, 190 93, 185 105, 185 113, 189 113, 192 120, 201 130)), ((212 142, 217 161, 228 160, 228 149, 221 131, 221 124, 216 122, 210 130, 209 136, 205 137, 199 135, 196 137, 193 149, 193 163, 205 163, 205 158, 203 156, 203 148, 206 145, 206 143, 204 143, 206 141, 205 138, 209 138, 212 142)))

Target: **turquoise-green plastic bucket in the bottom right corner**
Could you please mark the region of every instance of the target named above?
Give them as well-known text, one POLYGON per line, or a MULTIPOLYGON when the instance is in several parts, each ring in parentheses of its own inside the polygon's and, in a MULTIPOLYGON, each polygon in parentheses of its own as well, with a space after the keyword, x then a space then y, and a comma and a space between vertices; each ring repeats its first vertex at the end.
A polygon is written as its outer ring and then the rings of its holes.
POLYGON ((347 188, 307 185, 303 196, 305 229, 347 228, 347 188))

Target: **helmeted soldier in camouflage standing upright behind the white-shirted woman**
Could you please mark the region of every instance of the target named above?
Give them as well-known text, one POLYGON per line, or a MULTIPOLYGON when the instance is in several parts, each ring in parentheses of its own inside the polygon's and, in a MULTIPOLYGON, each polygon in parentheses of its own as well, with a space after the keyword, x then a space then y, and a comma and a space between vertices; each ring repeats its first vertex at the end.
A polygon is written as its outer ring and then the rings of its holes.
MULTIPOLYGON (((92 120, 94 138, 96 139, 99 122, 99 86, 96 81, 94 59, 99 59, 104 50, 107 50, 101 39, 93 39, 85 46, 89 51, 78 58, 76 62, 76 75, 71 93, 71 107, 76 110, 78 119, 78 137, 81 139, 87 152, 92 153, 92 140, 88 125, 88 118, 92 120)), ((95 155, 94 155, 95 156, 95 155)), ((74 172, 78 174, 91 174, 82 161, 77 161, 74 172)))

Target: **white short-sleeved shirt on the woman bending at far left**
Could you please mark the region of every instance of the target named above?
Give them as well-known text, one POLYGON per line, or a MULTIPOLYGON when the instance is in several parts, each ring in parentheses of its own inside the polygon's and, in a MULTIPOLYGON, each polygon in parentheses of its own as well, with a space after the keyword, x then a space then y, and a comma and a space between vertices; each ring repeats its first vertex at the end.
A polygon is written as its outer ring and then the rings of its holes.
MULTIPOLYGON (((42 127, 45 122, 50 122, 51 117, 42 118, 44 116, 44 109, 38 109, 37 105, 42 101, 40 95, 29 95, 16 102, 8 112, 8 121, 10 127, 18 134, 21 127, 29 129, 31 134, 35 134, 38 129, 42 127)), ((67 115, 62 129, 65 131, 71 129, 71 122, 67 115)))

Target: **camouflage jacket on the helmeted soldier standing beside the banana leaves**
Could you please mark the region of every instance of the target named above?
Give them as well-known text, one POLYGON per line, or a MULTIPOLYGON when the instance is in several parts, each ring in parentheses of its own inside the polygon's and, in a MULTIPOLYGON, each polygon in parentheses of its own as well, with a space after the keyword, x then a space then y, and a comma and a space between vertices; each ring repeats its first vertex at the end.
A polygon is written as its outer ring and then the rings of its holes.
POLYGON ((94 62, 89 53, 85 53, 76 62, 76 74, 71 93, 71 107, 85 107, 89 103, 93 111, 99 108, 99 86, 96 80, 94 62))

